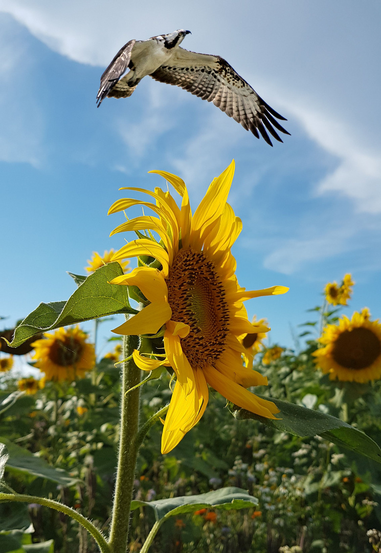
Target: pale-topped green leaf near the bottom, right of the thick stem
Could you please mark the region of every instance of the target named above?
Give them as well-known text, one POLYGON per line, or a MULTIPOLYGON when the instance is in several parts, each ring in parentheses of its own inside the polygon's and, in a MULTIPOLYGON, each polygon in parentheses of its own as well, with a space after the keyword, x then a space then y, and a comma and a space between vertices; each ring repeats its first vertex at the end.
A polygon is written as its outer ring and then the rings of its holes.
POLYGON ((150 502, 135 500, 131 503, 131 510, 139 507, 151 507, 154 509, 156 520, 162 520, 184 513, 192 513, 198 509, 213 507, 213 509, 236 510, 255 507, 257 504, 258 499, 249 495, 245 489, 229 487, 199 495, 182 495, 150 502))

